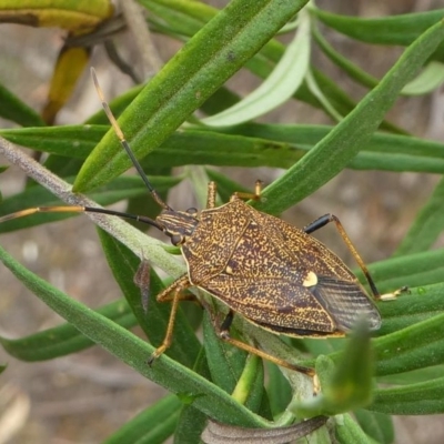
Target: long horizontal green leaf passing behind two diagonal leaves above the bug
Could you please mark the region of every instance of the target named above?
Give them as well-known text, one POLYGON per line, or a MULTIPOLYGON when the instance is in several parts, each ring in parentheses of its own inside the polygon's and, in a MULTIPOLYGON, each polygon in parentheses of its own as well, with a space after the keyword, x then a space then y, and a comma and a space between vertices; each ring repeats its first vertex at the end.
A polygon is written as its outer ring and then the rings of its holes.
MULTIPOLYGON (((82 133, 82 128, 0 130, 0 134, 22 147, 60 155, 71 155, 75 145, 75 155, 85 159, 108 127, 92 125, 79 139, 78 131, 82 133)), ((142 164, 150 165, 150 170, 188 164, 290 168, 331 130, 327 125, 246 124, 213 132, 198 127, 173 133, 142 164)), ((375 133, 346 167, 443 174, 443 157, 441 143, 375 133)))

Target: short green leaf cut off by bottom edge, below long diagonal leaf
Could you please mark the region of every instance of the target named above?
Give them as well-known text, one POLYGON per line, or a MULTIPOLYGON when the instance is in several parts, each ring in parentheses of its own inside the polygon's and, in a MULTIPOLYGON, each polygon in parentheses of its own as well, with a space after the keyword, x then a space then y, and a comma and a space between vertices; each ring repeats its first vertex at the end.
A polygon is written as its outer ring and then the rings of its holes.
POLYGON ((165 396, 127 422, 103 444, 163 444, 174 433, 181 408, 178 396, 165 396))

